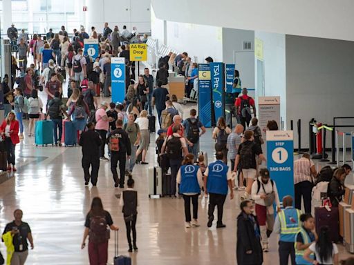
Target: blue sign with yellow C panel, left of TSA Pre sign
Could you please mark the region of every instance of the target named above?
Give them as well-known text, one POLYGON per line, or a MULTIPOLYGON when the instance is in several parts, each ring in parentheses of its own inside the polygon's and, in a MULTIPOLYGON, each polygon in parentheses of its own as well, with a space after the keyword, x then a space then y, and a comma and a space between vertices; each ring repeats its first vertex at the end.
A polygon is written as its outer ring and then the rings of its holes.
POLYGON ((209 63, 198 65, 198 115, 205 127, 212 127, 212 86, 209 63))

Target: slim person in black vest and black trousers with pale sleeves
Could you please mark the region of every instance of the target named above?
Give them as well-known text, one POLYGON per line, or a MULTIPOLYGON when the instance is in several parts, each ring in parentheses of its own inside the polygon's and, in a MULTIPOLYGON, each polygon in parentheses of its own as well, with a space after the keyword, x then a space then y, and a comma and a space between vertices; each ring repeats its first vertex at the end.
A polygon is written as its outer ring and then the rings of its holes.
POLYGON ((134 190, 134 179, 129 177, 127 190, 123 190, 120 195, 120 206, 122 206, 122 213, 124 215, 125 226, 127 227, 127 239, 129 244, 128 252, 138 251, 136 246, 136 216, 138 211, 138 192, 134 190), (131 245, 130 231, 133 231, 133 246, 131 245))

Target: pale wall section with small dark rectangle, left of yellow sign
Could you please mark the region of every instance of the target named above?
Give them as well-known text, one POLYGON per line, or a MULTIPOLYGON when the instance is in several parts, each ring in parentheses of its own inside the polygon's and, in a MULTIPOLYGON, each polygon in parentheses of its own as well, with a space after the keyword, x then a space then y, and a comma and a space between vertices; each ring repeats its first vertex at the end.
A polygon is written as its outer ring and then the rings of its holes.
POLYGON ((236 63, 236 69, 240 71, 241 84, 245 88, 255 88, 253 46, 253 30, 223 28, 223 63, 236 63), (243 41, 251 41, 252 50, 244 51, 243 41))

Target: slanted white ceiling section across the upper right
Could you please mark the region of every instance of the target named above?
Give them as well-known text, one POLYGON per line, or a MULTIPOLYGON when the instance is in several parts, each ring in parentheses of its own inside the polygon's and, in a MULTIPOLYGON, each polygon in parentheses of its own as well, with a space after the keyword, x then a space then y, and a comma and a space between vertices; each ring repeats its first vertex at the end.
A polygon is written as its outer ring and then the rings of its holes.
POLYGON ((354 41, 354 0, 151 0, 167 21, 354 41))

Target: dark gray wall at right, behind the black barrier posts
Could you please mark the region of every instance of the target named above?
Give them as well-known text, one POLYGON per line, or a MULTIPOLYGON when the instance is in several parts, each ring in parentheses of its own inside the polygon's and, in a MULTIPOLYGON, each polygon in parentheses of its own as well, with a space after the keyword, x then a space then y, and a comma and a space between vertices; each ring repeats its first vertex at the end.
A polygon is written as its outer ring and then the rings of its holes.
MULTIPOLYGON (((301 119, 301 148, 308 147, 312 117, 331 125, 333 117, 354 115, 353 77, 353 41, 286 35, 287 124, 290 128, 291 119, 301 119)), ((295 138, 297 146, 297 133, 295 138)), ((326 145, 330 147, 329 136, 326 145)))

